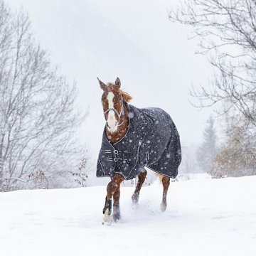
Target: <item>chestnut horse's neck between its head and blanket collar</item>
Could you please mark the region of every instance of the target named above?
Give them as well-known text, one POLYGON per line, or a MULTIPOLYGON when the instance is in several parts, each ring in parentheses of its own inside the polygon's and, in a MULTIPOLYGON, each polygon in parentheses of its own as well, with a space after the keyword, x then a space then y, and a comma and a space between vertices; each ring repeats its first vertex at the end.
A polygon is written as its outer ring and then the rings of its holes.
POLYGON ((124 137, 128 129, 128 122, 129 122, 129 118, 128 118, 127 105, 124 104, 124 114, 122 114, 120 117, 119 123, 121 125, 117 128, 117 131, 110 132, 108 129, 106 129, 107 138, 110 139, 110 142, 112 144, 119 142, 119 140, 122 139, 122 137, 124 137))

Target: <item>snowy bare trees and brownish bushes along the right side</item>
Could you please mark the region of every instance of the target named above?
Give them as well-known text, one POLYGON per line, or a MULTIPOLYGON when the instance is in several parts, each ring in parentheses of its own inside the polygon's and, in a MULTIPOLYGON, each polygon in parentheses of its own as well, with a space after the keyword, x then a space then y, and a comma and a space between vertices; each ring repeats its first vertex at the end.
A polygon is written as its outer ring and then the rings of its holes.
POLYGON ((210 149, 206 127, 199 163, 208 162, 204 168, 215 177, 256 174, 256 1, 184 0, 169 18, 191 27, 197 53, 207 55, 215 70, 211 85, 191 95, 196 107, 218 106, 225 140, 218 151, 210 149), (206 149, 215 151, 211 161, 206 149))

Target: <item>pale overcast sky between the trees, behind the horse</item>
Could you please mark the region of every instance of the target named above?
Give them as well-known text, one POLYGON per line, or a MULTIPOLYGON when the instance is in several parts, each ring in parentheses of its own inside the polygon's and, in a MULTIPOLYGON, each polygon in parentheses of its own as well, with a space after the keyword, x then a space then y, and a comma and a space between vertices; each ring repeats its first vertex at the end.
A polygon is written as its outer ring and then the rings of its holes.
POLYGON ((211 110, 188 102, 191 83, 208 86, 206 56, 195 55, 189 28, 168 19, 178 1, 7 0, 23 6, 36 40, 70 81, 78 82, 78 105, 90 107, 82 141, 100 148, 104 117, 97 76, 132 95, 137 107, 162 107, 171 114, 183 146, 201 141, 211 110), (90 136, 87 135, 90 132, 90 136))

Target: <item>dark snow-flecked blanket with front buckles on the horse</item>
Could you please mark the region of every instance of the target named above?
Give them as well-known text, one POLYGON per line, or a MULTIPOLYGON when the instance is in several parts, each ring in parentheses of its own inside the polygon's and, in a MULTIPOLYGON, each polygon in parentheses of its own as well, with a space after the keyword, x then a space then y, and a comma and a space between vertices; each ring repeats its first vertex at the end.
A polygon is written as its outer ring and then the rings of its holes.
MULTIPOLYGON (((97 177, 122 174, 132 179, 144 166, 175 178, 181 163, 178 131, 168 113, 160 108, 139 109, 128 105, 129 127, 119 142, 111 144, 103 132, 97 161, 97 177)), ((106 129, 106 128, 105 128, 106 129)))

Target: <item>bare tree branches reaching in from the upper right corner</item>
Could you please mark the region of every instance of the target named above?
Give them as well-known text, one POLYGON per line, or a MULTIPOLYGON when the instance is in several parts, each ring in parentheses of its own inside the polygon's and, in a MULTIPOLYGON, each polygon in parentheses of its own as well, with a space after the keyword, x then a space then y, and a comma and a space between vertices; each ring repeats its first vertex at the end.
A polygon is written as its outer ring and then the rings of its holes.
MULTIPOLYGON (((227 102, 256 126, 256 1, 185 0, 169 13, 171 21, 193 27, 198 53, 207 54, 216 70, 210 89, 192 94, 199 106, 227 102)), ((227 109, 223 110, 225 112, 227 109)))

